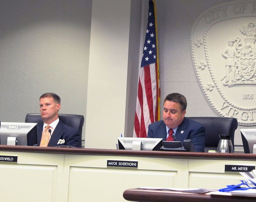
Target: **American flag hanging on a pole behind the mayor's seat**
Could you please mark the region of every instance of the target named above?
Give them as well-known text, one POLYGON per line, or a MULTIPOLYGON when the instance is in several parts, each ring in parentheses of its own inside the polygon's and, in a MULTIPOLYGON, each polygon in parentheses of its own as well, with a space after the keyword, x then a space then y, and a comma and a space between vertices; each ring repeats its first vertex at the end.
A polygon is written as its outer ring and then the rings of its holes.
POLYGON ((160 88, 155 14, 154 2, 149 0, 147 31, 139 68, 134 137, 147 137, 148 125, 159 120, 160 88))

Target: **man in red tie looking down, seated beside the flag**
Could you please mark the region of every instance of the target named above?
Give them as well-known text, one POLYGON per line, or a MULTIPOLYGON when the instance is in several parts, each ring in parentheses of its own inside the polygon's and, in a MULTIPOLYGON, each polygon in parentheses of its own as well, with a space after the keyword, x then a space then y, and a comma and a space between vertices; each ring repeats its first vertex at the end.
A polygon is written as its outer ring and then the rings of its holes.
POLYGON ((149 124, 147 137, 163 138, 163 141, 169 140, 171 136, 174 141, 191 139, 196 152, 204 152, 205 127, 185 117, 186 107, 187 101, 183 95, 167 95, 164 100, 163 120, 149 124))

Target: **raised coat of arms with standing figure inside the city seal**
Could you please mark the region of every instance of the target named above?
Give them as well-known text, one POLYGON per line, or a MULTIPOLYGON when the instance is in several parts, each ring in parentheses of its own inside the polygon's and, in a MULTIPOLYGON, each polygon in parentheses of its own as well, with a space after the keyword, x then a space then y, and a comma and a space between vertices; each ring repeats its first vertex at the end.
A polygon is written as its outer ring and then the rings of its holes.
POLYGON ((256 77, 256 26, 249 23, 247 26, 241 25, 240 32, 246 36, 244 44, 240 37, 228 40, 228 47, 222 56, 225 58, 225 84, 234 85, 255 85, 256 77))

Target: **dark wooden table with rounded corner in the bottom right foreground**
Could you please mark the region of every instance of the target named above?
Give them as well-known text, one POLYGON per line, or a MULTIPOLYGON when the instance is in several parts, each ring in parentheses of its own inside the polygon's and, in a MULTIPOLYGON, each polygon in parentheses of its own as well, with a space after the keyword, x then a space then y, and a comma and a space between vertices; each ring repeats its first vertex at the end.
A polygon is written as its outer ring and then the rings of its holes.
POLYGON ((124 199, 136 202, 255 202, 256 197, 211 195, 176 191, 127 189, 124 199))

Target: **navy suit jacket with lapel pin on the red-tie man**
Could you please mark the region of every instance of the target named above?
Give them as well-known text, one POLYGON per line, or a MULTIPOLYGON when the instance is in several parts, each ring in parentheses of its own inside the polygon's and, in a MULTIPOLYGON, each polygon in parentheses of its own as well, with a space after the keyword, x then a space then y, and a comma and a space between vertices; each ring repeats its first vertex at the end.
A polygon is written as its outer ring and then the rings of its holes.
MULTIPOLYGON (((177 128, 175 139, 177 141, 191 139, 193 141, 196 152, 204 152, 205 133, 206 132, 204 126, 185 117, 177 128)), ((164 121, 161 120, 149 124, 147 137, 163 138, 163 141, 166 141, 166 126, 164 121)))

